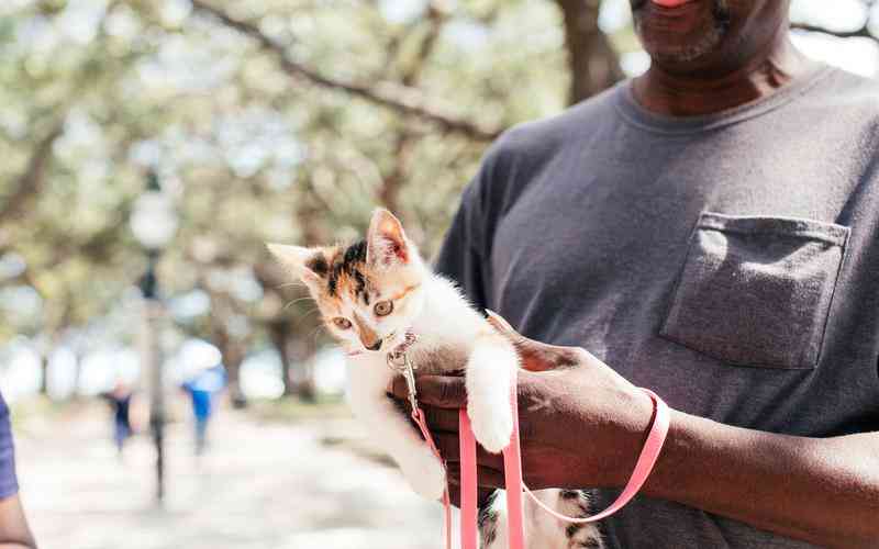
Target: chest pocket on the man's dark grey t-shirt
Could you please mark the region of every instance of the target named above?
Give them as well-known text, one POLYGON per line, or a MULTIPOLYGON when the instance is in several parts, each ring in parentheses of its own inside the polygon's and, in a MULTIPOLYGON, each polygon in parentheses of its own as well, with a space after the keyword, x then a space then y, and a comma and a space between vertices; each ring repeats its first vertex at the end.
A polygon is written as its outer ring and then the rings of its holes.
POLYGON ((702 212, 659 335, 738 366, 817 366, 849 228, 702 212))

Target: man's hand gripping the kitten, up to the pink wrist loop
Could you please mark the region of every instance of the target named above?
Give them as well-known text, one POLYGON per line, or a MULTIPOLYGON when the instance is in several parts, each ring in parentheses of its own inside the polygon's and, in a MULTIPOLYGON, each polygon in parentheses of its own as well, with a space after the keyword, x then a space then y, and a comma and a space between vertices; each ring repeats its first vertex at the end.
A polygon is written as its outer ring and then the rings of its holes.
MULTIPOLYGON (((653 403, 646 394, 581 348, 528 339, 497 315, 494 328, 519 350, 519 422, 522 468, 533 489, 622 486, 646 437, 653 403)), ((437 448, 459 481, 458 410, 466 406, 464 378, 422 376, 419 402, 437 448)), ((407 404, 402 378, 390 388, 407 404)), ((479 484, 503 488, 503 457, 477 447, 479 484)))

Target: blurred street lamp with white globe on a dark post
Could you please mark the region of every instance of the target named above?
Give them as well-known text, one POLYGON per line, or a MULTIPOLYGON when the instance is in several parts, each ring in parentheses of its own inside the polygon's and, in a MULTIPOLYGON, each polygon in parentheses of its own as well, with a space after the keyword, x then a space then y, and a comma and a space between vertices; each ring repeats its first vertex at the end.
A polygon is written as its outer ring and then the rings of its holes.
POLYGON ((155 170, 146 175, 146 190, 134 203, 131 231, 146 250, 146 272, 141 278, 144 295, 144 367, 151 376, 149 426, 156 446, 156 498, 165 496, 165 393, 162 371, 162 348, 157 324, 162 315, 162 301, 156 278, 156 264, 162 250, 177 232, 177 213, 167 193, 163 192, 155 170))

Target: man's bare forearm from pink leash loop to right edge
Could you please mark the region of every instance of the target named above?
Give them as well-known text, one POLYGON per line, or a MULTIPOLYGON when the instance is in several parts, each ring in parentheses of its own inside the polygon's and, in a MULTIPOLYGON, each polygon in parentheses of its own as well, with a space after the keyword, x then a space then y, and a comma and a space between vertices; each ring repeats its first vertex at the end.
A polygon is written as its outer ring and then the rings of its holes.
POLYGON ((793 437, 672 411, 644 491, 821 546, 875 548, 879 433, 793 437))

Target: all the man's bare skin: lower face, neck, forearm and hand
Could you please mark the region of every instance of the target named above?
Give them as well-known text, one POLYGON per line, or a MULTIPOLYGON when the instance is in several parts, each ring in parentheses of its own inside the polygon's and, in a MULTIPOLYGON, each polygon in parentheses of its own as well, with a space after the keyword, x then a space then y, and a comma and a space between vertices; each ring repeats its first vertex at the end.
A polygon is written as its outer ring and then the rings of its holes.
MULTIPOLYGON (((694 0, 664 11, 635 0, 636 29, 653 58, 634 81, 636 100, 659 114, 688 116, 786 86, 811 66, 787 38, 788 7, 786 0, 694 0)), ((649 397, 585 349, 526 339, 499 317, 492 323, 516 345, 525 368, 519 377, 525 483, 622 488, 649 428, 649 397)), ((456 496, 464 380, 424 376, 418 391, 456 496)), ((405 383, 396 380, 389 392, 404 401, 405 383)), ((480 494, 503 488, 502 458, 481 448, 477 458, 480 494)), ((642 492, 820 546, 877 547, 879 433, 794 437, 672 410, 642 492)))

